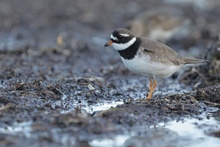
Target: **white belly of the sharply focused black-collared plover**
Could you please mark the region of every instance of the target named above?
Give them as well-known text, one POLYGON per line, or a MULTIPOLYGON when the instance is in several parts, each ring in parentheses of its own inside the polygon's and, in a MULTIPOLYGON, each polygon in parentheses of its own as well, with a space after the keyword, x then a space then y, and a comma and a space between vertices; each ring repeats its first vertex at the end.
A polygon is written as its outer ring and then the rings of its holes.
POLYGON ((149 58, 134 58, 126 60, 121 58, 124 65, 132 72, 147 76, 166 78, 179 70, 181 66, 158 63, 149 58))

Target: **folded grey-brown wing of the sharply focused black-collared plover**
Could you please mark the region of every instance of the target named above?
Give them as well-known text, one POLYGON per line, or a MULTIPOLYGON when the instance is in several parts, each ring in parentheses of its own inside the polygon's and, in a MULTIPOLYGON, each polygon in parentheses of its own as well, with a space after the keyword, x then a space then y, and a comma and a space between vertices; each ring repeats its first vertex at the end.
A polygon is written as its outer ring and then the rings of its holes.
POLYGON ((149 54, 152 61, 171 65, 180 65, 185 63, 183 57, 167 45, 143 37, 140 39, 142 41, 141 46, 143 47, 143 52, 149 54))

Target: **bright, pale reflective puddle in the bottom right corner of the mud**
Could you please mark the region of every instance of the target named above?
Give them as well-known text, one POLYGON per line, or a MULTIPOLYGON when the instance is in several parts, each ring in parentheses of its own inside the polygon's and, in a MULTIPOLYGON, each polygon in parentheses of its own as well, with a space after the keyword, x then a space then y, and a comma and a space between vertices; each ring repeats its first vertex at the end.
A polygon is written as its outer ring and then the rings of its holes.
POLYGON ((214 117, 209 119, 201 117, 199 119, 184 119, 183 122, 169 122, 164 127, 178 134, 180 138, 188 138, 187 145, 192 147, 219 145, 219 138, 210 136, 212 129, 219 130, 220 122, 214 117))

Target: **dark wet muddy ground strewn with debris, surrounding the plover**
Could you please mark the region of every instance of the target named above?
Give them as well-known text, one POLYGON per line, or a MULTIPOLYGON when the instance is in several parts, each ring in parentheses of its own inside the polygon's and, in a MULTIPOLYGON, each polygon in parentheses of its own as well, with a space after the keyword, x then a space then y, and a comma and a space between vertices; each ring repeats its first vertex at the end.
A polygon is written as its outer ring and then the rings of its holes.
MULTIPOLYGON (((142 138, 124 146, 155 145, 150 134, 161 122, 202 121, 201 115, 219 122, 219 16, 216 5, 202 9, 153 0, 1 0, 0 145, 92 146, 94 139, 131 132, 142 138), (154 98, 145 101, 147 77, 129 72, 117 52, 103 45, 114 29, 161 6, 187 9, 184 17, 198 30, 196 37, 166 43, 188 55, 197 48, 196 55, 210 63, 159 79, 154 98), (106 102, 123 104, 87 111, 106 102)), ((219 138, 219 128, 207 134, 219 138)), ((165 146, 184 145, 172 139, 165 146)))

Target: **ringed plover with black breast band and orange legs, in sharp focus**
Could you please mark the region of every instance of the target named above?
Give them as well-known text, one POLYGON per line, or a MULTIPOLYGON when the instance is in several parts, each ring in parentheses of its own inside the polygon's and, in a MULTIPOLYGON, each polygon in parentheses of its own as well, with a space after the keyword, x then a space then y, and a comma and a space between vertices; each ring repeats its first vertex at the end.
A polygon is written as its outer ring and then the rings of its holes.
POLYGON ((108 46, 113 46, 118 51, 126 68, 136 74, 148 76, 150 84, 147 100, 152 98, 157 87, 156 78, 167 78, 186 64, 207 62, 181 56, 164 43, 136 37, 133 32, 124 28, 112 32, 110 40, 104 45, 108 46))

